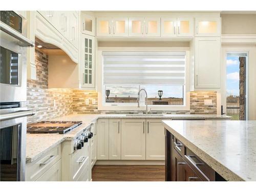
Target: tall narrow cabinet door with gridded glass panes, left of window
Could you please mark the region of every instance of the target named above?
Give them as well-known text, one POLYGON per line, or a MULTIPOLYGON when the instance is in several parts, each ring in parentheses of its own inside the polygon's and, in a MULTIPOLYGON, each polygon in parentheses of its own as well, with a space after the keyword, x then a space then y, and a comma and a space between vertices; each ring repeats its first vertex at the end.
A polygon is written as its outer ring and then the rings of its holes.
POLYGON ((80 84, 82 88, 95 87, 95 37, 81 34, 80 84))

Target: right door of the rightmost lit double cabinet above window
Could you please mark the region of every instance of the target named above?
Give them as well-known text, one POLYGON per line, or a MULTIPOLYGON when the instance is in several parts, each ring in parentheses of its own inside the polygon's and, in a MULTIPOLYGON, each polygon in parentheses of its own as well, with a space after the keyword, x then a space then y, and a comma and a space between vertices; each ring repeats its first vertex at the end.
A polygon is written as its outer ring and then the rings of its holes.
POLYGON ((178 17, 178 37, 193 37, 194 35, 194 18, 192 17, 178 17))

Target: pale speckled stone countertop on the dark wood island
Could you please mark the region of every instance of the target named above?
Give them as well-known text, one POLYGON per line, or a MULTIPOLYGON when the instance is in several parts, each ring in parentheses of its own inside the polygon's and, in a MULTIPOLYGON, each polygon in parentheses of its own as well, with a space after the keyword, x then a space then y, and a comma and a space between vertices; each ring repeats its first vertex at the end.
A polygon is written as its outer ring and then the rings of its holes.
POLYGON ((163 121, 172 133, 228 181, 256 181, 256 121, 163 121))

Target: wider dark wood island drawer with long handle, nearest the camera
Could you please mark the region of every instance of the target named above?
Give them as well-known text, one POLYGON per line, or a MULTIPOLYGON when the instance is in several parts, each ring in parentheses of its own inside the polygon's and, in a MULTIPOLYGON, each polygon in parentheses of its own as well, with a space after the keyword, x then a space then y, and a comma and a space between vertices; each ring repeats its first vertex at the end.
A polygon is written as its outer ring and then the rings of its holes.
POLYGON ((215 180, 215 171, 186 146, 184 146, 184 159, 203 181, 215 180))

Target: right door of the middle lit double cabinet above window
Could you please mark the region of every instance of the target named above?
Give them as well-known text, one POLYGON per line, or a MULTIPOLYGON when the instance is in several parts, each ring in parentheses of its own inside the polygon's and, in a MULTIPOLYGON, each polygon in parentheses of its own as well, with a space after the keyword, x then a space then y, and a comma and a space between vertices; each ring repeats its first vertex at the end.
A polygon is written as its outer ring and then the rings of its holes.
POLYGON ((160 18, 145 19, 145 36, 160 37, 160 18))

